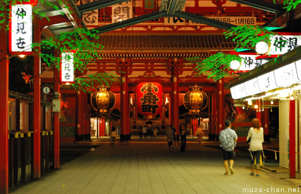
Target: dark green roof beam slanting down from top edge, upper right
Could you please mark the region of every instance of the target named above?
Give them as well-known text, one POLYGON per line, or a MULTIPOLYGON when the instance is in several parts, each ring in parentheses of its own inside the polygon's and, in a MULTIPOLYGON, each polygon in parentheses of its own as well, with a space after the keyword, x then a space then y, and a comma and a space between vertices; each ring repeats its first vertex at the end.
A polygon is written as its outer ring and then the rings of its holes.
POLYGON ((261 10, 273 12, 276 13, 276 15, 280 15, 285 11, 285 9, 283 9, 282 6, 276 5, 274 3, 265 2, 263 0, 230 0, 230 1, 237 2, 239 4, 245 4, 261 10))

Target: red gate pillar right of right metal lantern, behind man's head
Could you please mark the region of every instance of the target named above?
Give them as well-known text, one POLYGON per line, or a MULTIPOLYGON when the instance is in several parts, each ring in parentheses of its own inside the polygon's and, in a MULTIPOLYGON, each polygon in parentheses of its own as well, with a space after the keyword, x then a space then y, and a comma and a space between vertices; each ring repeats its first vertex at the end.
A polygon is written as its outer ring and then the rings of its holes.
POLYGON ((216 140, 225 122, 224 118, 224 79, 221 78, 217 81, 217 133, 216 140))

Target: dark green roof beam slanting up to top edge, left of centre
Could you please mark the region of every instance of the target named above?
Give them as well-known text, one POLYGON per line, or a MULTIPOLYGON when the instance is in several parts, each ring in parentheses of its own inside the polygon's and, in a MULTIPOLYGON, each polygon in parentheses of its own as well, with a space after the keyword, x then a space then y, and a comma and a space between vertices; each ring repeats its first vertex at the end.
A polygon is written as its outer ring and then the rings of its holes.
POLYGON ((131 1, 131 0, 95 0, 93 2, 88 2, 85 4, 77 5, 77 9, 80 13, 80 16, 82 16, 82 14, 84 12, 104 8, 107 6, 111 6, 111 5, 126 2, 126 1, 131 1))

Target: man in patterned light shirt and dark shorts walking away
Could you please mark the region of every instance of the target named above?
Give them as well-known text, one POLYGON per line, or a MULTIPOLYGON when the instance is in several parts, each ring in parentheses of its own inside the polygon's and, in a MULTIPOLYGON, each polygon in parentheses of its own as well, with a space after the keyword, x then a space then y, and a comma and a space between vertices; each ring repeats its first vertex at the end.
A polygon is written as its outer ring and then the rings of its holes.
POLYGON ((228 171, 228 160, 230 164, 230 172, 231 174, 234 174, 233 170, 233 157, 234 157, 234 147, 236 145, 237 141, 237 134, 234 130, 231 128, 231 122, 230 120, 225 121, 225 129, 222 130, 219 134, 218 139, 221 141, 220 146, 223 147, 223 155, 224 155, 224 165, 226 168, 225 175, 229 174, 228 171))

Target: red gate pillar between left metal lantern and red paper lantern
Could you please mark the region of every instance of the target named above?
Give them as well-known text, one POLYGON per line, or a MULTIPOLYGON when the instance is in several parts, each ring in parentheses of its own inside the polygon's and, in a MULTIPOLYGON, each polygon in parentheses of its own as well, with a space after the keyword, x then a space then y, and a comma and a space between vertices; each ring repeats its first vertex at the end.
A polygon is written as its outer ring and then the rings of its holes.
POLYGON ((120 141, 130 140, 127 67, 122 68, 120 86, 120 141))

